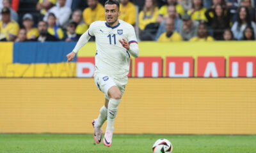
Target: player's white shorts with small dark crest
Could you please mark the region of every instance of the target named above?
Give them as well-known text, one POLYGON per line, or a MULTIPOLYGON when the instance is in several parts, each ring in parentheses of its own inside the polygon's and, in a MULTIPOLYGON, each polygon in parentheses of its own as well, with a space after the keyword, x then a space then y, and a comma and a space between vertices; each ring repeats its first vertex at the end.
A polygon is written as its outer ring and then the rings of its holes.
POLYGON ((106 75, 104 73, 95 73, 94 81, 98 89, 105 94, 106 99, 109 99, 108 90, 115 85, 119 88, 122 95, 124 94, 125 85, 122 82, 113 79, 109 75, 106 75))

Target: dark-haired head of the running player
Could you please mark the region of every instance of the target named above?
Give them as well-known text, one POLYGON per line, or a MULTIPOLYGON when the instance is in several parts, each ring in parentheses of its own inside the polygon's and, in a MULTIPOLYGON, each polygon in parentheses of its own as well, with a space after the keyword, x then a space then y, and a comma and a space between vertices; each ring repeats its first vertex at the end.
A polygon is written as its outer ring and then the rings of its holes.
POLYGON ((120 16, 120 4, 117 0, 108 0, 104 4, 105 7, 105 17, 107 24, 112 25, 117 22, 120 16))

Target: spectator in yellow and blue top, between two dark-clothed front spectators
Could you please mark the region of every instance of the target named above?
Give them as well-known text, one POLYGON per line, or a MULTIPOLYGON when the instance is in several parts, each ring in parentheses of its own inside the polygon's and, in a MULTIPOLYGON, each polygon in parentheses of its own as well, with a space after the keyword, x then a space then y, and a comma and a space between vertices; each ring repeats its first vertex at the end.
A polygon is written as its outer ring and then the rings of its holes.
POLYGON ((47 18, 47 24, 48 28, 47 31, 49 34, 52 36, 55 36, 58 40, 62 40, 64 34, 63 31, 58 25, 56 25, 56 17, 54 13, 49 13, 48 18, 47 18))

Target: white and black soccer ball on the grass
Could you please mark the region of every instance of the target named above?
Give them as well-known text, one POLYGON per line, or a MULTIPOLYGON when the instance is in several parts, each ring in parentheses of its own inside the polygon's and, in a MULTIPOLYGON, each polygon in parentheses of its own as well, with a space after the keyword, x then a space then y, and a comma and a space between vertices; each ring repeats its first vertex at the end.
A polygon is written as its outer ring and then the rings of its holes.
POLYGON ((157 140, 153 147, 153 153, 172 153, 172 143, 166 139, 157 140))

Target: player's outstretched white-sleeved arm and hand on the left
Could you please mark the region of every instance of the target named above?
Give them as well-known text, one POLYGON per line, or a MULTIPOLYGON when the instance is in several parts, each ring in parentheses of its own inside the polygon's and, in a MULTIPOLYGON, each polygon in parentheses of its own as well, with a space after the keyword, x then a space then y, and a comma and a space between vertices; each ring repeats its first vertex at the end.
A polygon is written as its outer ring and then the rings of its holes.
POLYGON ((74 48, 74 50, 72 50, 72 52, 70 52, 70 54, 67 55, 67 59, 68 62, 73 61, 74 57, 76 56, 77 51, 83 47, 83 45, 85 45, 91 38, 89 29, 79 38, 79 40, 77 41, 76 47, 74 48))

